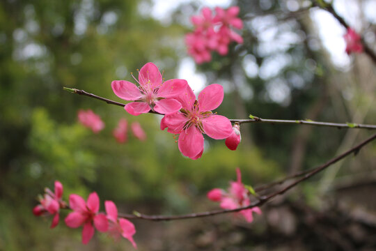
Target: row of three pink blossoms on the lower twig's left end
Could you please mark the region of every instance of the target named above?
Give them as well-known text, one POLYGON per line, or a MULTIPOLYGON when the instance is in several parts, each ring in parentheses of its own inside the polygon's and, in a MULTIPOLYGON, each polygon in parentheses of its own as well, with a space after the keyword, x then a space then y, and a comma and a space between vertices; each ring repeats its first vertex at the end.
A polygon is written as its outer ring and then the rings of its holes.
POLYGON ((127 238, 134 248, 136 243, 133 235, 136 229, 132 222, 125 218, 118 218, 118 209, 113 201, 105 201, 106 214, 100 213, 100 199, 96 192, 92 192, 87 201, 79 195, 69 196, 69 205, 62 199, 63 185, 59 181, 55 181, 55 192, 46 188, 44 197, 41 197, 40 204, 33 208, 33 214, 54 215, 51 228, 58 225, 60 208, 70 208, 72 212, 65 218, 65 225, 72 228, 83 226, 82 243, 87 244, 93 238, 94 231, 97 229, 101 232, 108 232, 114 238, 123 236, 127 238))

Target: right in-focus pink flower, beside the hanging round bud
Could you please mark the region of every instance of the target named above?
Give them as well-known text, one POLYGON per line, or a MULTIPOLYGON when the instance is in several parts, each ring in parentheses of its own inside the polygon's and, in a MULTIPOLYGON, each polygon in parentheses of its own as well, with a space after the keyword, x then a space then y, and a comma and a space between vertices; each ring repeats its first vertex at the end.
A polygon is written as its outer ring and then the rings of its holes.
POLYGON ((219 84, 210 84, 198 95, 191 87, 177 98, 182 103, 180 112, 166 114, 161 121, 161 129, 180 134, 178 147, 180 152, 196 160, 203 154, 203 133, 213 139, 226 139, 233 132, 230 121, 221 115, 212 113, 224 99, 224 89, 219 84))

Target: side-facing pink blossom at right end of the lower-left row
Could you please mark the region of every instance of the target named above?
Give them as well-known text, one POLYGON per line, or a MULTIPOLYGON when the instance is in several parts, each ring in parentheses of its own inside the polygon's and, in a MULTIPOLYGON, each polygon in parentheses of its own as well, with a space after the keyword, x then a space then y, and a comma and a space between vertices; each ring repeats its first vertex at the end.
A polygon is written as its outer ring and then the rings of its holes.
POLYGON ((106 207, 107 219, 109 220, 109 234, 116 239, 120 238, 121 235, 127 238, 134 248, 137 248, 133 240, 133 235, 136 234, 133 223, 124 218, 118 219, 118 208, 116 208, 113 201, 104 201, 104 206, 106 207))

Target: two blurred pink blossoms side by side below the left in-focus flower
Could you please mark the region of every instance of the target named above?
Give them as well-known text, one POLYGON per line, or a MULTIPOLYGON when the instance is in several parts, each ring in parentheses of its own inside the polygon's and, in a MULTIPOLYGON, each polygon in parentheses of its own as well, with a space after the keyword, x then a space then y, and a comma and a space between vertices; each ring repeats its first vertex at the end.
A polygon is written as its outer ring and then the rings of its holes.
MULTIPOLYGON (((137 139, 141 141, 146 140, 146 133, 141 128, 141 125, 139 122, 132 122, 131 124, 131 130, 137 139)), ((113 129, 113 137, 115 137, 116 141, 119 143, 125 143, 127 142, 127 132, 128 132, 128 121, 126 119, 120 119, 118 122, 118 126, 113 129)))

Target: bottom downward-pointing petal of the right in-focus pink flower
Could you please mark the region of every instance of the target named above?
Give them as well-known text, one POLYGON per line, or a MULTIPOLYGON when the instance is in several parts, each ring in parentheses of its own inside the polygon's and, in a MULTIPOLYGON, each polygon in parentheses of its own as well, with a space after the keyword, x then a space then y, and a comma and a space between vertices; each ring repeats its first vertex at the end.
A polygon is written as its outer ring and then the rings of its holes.
POLYGON ((178 146, 182 155, 194 158, 203 151, 203 135, 196 126, 191 126, 180 133, 178 146))

